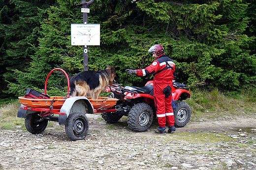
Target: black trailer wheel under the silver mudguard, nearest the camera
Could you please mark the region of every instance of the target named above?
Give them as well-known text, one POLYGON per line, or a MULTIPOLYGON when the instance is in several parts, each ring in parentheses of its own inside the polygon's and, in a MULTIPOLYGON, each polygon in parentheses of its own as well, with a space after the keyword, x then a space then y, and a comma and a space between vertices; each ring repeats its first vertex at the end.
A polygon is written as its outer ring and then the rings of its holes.
POLYGON ((66 120, 65 131, 71 141, 85 139, 89 131, 89 121, 83 113, 71 113, 66 120))

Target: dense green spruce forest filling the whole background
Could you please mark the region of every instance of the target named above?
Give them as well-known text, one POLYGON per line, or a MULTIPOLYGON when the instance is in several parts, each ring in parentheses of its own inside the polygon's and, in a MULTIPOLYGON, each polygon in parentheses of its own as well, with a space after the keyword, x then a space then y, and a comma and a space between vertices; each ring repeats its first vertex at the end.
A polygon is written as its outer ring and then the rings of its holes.
MULTIPOLYGON (((82 24, 81 0, 0 0, 0 98, 44 89, 54 68, 83 71, 83 47, 71 46, 71 24, 82 24)), ((256 92, 256 0, 95 0, 89 24, 100 24, 100 46, 89 46, 89 70, 115 65, 122 85, 153 76, 128 75, 154 58, 161 44, 176 63, 177 81, 193 89, 256 92)), ((54 72, 47 94, 65 96, 54 72)))

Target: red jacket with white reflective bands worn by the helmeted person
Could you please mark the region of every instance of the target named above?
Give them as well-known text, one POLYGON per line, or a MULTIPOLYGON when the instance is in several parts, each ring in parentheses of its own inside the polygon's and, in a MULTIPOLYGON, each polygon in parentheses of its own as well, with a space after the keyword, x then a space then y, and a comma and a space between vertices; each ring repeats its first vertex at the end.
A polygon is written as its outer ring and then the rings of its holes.
POLYGON ((175 63, 165 54, 160 54, 149 67, 136 71, 136 75, 138 76, 145 76, 148 74, 154 74, 154 80, 156 82, 162 82, 164 79, 166 82, 173 83, 176 79, 175 63))

